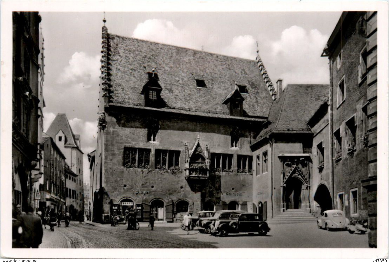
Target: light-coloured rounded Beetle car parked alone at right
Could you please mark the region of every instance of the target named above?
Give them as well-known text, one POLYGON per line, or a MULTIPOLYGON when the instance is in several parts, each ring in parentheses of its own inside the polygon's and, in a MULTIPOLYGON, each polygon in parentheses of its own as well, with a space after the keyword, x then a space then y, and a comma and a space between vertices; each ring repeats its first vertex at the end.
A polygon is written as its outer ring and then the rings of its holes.
POLYGON ((347 219, 342 210, 326 210, 322 213, 321 218, 317 219, 317 227, 326 230, 349 227, 350 221, 347 219))

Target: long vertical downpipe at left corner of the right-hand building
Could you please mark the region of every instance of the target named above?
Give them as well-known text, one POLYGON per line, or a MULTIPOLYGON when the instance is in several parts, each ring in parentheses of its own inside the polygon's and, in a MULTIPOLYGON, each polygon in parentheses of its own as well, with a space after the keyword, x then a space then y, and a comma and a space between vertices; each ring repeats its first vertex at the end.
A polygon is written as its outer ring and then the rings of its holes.
POLYGON ((328 123, 329 123, 329 188, 332 196, 332 208, 335 208, 334 202, 334 138, 333 138, 333 66, 331 63, 331 58, 329 58, 329 75, 330 75, 330 83, 329 83, 329 114, 328 114, 328 123))

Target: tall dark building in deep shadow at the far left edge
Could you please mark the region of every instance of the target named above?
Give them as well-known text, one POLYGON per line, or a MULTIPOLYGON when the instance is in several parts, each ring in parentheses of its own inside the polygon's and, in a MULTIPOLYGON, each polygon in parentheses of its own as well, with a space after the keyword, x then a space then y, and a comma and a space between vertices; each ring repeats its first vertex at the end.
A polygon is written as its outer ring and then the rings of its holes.
POLYGON ((33 182, 42 176, 38 152, 40 21, 38 12, 12 13, 12 204, 23 210, 34 205, 33 182))

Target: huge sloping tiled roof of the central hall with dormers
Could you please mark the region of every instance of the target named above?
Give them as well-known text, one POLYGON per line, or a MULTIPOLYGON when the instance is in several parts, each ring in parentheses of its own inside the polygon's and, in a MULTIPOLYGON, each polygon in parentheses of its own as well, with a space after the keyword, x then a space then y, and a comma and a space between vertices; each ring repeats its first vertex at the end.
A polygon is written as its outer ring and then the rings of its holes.
POLYGON ((246 85, 247 117, 266 117, 272 98, 257 62, 109 34, 110 104, 144 107, 147 72, 156 68, 161 98, 170 109, 230 115, 224 98, 235 82, 246 85), (200 76, 200 77, 199 77, 200 76), (207 88, 196 88, 195 79, 207 88))

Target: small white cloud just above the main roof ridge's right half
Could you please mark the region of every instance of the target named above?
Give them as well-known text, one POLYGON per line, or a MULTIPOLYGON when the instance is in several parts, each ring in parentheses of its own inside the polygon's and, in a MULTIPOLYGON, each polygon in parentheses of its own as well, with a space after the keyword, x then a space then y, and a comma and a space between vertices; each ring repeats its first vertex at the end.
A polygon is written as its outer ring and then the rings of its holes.
POLYGON ((251 35, 237 36, 223 49, 223 54, 254 60, 256 58, 256 40, 251 35))

